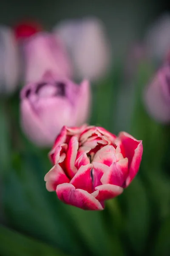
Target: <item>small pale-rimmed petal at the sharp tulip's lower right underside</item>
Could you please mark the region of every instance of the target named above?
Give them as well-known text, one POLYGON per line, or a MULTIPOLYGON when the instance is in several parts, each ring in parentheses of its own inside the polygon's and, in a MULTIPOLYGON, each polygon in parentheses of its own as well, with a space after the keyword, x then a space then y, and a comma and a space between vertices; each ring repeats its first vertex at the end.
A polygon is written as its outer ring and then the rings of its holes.
POLYGON ((114 198, 123 192, 122 187, 111 184, 100 185, 95 189, 96 191, 91 195, 94 195, 94 197, 99 200, 99 202, 114 198))

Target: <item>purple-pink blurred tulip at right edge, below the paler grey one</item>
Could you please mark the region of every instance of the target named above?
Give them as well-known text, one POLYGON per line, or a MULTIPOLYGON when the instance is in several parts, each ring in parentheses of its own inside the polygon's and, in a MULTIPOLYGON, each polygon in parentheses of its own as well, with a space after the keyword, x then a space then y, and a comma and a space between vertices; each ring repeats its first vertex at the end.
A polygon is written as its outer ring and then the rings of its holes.
POLYGON ((170 65, 166 64, 154 76, 144 91, 148 113, 158 122, 170 122, 170 65))

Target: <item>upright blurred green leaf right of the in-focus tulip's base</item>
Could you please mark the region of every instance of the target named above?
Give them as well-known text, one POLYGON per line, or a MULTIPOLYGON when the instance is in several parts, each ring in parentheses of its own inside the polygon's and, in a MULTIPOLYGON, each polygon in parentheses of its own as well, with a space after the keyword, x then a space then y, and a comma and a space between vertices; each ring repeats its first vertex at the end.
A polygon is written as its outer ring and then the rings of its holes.
POLYGON ((135 255, 144 255, 150 230, 150 207, 147 193, 138 177, 125 189, 126 226, 128 240, 135 255))

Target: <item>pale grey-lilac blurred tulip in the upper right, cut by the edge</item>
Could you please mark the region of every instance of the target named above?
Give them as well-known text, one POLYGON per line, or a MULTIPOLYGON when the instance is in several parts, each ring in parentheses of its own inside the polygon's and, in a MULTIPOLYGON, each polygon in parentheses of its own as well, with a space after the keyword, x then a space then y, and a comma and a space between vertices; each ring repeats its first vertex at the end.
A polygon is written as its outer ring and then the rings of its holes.
POLYGON ((170 15, 164 14, 153 23, 145 36, 147 53, 161 63, 170 50, 170 15))

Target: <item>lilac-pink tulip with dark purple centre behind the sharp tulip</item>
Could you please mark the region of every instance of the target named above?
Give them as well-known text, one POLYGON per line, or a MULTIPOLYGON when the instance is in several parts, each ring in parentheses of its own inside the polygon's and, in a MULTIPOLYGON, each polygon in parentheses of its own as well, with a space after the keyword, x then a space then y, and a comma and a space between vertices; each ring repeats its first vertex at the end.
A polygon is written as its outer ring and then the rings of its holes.
POLYGON ((28 138, 38 146, 51 146, 63 125, 82 125, 90 107, 90 87, 46 73, 37 83, 21 91, 21 124, 28 138))

